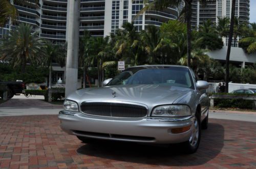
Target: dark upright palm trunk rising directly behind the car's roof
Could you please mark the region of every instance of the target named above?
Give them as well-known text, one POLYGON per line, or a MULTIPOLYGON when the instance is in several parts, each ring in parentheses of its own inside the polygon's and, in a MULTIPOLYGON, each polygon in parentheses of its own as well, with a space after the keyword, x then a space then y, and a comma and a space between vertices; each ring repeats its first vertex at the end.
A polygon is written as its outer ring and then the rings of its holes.
POLYGON ((187 22, 187 66, 190 67, 191 59, 191 0, 185 1, 186 22, 187 22))

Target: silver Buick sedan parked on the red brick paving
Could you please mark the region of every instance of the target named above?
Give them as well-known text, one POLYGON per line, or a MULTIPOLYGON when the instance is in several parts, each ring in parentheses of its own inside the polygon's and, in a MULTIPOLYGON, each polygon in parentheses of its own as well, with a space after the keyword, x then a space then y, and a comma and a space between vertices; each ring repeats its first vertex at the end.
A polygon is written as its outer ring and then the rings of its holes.
POLYGON ((131 67, 102 88, 78 90, 59 112, 61 128, 83 142, 183 143, 188 153, 199 146, 208 125, 208 83, 188 67, 131 67))

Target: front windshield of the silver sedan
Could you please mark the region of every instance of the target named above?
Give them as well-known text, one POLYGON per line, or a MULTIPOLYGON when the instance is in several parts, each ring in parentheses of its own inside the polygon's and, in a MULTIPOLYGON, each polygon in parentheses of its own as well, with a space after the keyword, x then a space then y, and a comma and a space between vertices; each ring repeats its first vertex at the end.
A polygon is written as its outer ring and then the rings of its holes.
POLYGON ((155 84, 194 88, 189 70, 183 67, 127 69, 114 77, 108 86, 155 84))

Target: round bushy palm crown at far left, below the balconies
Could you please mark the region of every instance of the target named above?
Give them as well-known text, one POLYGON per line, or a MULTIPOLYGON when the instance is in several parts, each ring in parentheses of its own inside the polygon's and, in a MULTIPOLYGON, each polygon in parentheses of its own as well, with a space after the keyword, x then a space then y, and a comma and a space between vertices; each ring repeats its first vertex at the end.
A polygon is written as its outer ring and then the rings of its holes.
POLYGON ((32 25, 21 23, 10 35, 2 39, 0 52, 2 60, 8 60, 14 68, 20 66, 25 72, 27 63, 39 64, 46 55, 44 41, 32 31, 32 25))

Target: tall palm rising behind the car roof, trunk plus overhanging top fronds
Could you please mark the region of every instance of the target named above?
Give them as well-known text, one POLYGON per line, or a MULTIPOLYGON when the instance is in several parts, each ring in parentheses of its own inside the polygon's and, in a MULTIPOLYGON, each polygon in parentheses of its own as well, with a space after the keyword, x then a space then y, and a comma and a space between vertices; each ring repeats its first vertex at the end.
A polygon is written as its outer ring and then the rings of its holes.
MULTIPOLYGON (((198 0, 200 3, 206 4, 207 0, 198 0)), ((163 10, 172 6, 178 7, 182 0, 144 0, 145 5, 144 8, 137 14, 140 15, 148 10, 163 10)), ((185 7, 183 12, 185 14, 185 20, 187 23, 187 66, 190 66, 190 58, 191 58, 191 14, 192 14, 192 2, 193 0, 184 0, 185 7)))

